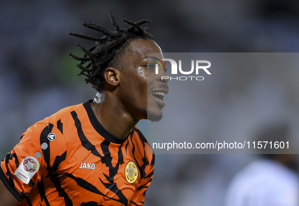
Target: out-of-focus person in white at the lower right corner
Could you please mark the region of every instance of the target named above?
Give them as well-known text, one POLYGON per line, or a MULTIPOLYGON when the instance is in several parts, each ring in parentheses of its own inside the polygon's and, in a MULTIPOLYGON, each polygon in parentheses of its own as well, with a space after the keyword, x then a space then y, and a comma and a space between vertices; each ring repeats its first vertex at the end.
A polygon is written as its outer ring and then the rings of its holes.
MULTIPOLYGON (((268 139, 280 136, 285 140, 286 133, 286 127, 276 127, 264 131, 260 137, 264 141, 266 136, 268 139)), ((233 178, 225 205, 299 205, 299 177, 294 169, 294 155, 263 155, 262 159, 253 161, 233 178)))

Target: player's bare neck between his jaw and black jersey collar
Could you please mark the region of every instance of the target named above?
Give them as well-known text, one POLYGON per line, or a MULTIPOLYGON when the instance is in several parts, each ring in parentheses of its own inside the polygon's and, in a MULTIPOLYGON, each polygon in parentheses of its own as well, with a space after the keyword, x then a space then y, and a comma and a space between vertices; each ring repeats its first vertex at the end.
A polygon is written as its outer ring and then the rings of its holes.
POLYGON ((116 137, 127 137, 139 121, 125 111, 118 101, 104 93, 97 93, 95 101, 90 104, 100 124, 116 137))

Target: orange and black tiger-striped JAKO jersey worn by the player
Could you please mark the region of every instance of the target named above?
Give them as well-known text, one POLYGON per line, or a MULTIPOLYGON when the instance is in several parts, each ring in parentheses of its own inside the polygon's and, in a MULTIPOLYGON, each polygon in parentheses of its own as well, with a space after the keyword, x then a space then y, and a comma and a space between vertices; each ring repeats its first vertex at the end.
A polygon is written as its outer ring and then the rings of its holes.
POLYGON ((109 133, 90 101, 29 127, 1 162, 19 205, 143 205, 154 170, 148 141, 137 127, 123 139, 109 133))

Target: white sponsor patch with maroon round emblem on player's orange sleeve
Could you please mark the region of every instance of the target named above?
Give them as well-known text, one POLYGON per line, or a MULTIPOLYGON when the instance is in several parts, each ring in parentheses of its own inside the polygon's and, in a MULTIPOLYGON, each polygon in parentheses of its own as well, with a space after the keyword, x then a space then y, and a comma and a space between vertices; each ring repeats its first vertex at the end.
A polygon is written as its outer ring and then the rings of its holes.
POLYGON ((31 177, 38 171, 39 163, 36 158, 27 156, 15 171, 14 175, 25 184, 28 184, 31 177))

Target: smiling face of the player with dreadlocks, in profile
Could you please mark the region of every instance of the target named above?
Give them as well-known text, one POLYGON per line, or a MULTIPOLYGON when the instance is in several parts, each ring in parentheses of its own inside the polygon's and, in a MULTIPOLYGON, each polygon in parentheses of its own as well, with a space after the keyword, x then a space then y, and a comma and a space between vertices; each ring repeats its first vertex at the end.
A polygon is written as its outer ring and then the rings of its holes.
POLYGON ((160 67, 158 74, 155 73, 155 59, 148 58, 147 53, 156 53, 151 57, 163 59, 160 47, 153 40, 137 39, 129 43, 119 70, 119 96, 134 119, 159 121, 165 106, 163 95, 168 93, 168 79, 161 79, 166 74, 160 67))

